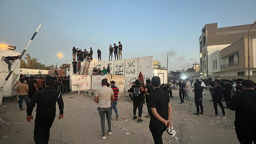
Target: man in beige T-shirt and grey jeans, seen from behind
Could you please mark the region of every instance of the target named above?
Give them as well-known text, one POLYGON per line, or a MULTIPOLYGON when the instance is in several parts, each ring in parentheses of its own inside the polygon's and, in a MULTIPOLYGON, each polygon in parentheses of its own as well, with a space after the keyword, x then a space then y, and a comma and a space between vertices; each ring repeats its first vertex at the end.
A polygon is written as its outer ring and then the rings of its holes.
POLYGON ((107 87, 107 80, 103 79, 101 81, 101 88, 96 91, 94 101, 98 103, 98 111, 100 115, 100 123, 102 134, 100 137, 106 139, 105 134, 105 114, 108 121, 108 135, 111 135, 113 130, 111 129, 111 100, 115 99, 114 92, 110 87, 107 87))

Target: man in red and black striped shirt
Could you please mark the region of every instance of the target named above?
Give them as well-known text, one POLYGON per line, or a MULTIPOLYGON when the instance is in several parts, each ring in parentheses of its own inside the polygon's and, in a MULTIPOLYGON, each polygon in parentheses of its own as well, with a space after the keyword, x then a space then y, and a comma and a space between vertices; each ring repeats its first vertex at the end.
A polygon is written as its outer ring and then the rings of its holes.
POLYGON ((114 92, 114 96, 115 96, 115 99, 111 101, 111 111, 110 111, 110 115, 111 115, 111 118, 112 118, 112 110, 114 109, 115 113, 116 113, 116 119, 118 120, 119 119, 119 116, 118 116, 118 110, 117 110, 117 100, 118 100, 118 93, 119 93, 119 89, 115 86, 115 81, 111 81, 110 82, 110 86, 114 92))

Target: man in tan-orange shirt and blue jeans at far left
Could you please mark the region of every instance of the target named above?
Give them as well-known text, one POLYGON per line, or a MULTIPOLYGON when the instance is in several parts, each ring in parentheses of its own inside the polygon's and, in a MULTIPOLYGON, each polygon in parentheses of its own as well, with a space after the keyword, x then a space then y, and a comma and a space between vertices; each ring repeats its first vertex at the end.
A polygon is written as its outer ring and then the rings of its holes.
POLYGON ((25 84, 25 79, 21 78, 20 82, 17 87, 16 87, 16 91, 19 94, 19 107, 20 107, 20 111, 23 111, 24 109, 22 108, 22 100, 24 99, 26 102, 26 105, 28 103, 28 84, 25 84))

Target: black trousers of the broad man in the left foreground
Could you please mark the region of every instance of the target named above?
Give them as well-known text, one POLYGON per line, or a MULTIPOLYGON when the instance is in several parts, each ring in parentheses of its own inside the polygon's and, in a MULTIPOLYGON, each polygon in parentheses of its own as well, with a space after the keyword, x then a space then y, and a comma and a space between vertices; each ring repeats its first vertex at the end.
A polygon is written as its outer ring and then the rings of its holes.
POLYGON ((54 118, 50 121, 35 121, 34 140, 36 144, 48 144, 53 121, 54 118))

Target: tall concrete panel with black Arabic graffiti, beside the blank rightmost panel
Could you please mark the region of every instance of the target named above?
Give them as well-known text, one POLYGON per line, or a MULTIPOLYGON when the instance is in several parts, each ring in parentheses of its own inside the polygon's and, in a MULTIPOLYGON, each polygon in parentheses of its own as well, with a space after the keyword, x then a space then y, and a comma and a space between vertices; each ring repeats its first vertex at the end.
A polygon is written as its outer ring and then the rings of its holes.
POLYGON ((125 60, 125 87, 124 91, 128 91, 132 87, 132 82, 138 79, 138 58, 125 60))

